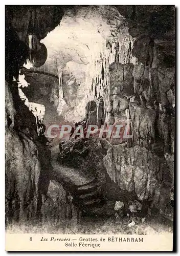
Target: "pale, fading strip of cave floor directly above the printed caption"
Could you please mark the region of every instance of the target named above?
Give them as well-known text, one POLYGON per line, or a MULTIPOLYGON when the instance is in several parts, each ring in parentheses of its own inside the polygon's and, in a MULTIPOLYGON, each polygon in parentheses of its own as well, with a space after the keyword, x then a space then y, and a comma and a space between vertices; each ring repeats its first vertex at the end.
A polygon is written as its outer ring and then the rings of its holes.
POLYGON ((94 219, 82 218, 79 222, 58 221, 46 222, 41 225, 10 225, 6 232, 9 233, 64 233, 64 234, 158 234, 173 233, 173 223, 157 216, 151 217, 124 217, 124 218, 107 218, 94 219), (129 225, 133 223, 133 225, 129 225))

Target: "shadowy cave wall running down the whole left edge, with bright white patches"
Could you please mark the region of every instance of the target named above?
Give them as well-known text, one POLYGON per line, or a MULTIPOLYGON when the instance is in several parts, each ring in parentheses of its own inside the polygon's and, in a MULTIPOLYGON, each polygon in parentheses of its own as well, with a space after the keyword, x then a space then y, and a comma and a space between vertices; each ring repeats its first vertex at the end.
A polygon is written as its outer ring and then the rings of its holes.
POLYGON ((50 153, 41 136, 45 108, 23 92, 29 83, 21 70, 46 61, 47 49, 39 40, 57 26, 62 15, 60 7, 6 6, 6 225, 36 222, 42 195, 48 190, 50 153), (31 42, 29 35, 33 35, 31 42))

